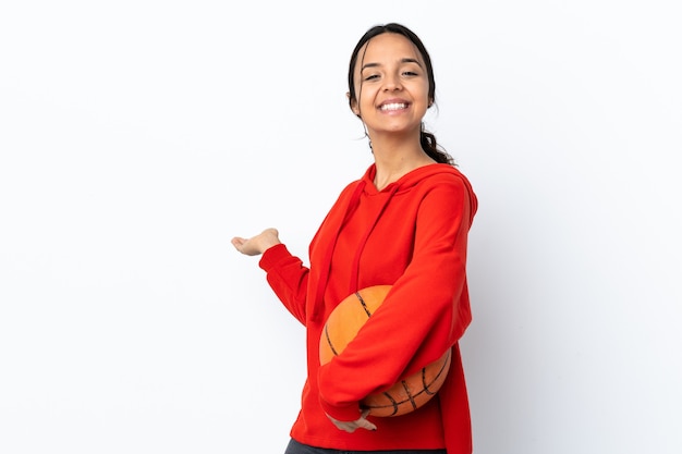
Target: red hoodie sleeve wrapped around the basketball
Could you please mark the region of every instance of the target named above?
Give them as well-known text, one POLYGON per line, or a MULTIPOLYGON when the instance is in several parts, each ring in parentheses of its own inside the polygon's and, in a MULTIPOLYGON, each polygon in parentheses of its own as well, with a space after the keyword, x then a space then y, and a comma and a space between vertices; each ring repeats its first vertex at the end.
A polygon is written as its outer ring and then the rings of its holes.
POLYGON ((328 415, 356 419, 362 398, 436 360, 463 335, 472 319, 465 263, 475 210, 463 177, 439 177, 421 193, 410 265, 355 339, 319 369, 328 415))

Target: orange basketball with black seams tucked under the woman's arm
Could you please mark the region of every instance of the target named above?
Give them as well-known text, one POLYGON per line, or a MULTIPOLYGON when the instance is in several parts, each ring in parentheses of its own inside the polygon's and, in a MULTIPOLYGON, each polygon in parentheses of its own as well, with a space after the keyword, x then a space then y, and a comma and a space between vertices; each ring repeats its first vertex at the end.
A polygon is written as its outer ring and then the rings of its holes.
MULTIPOLYGON (((372 314, 383 303, 390 285, 360 290, 344 298, 332 310, 319 341, 320 364, 339 355, 355 338, 372 314)), ((373 416, 400 416, 426 404, 440 389, 450 369, 451 351, 422 370, 404 378, 388 390, 370 394, 361 402, 373 416)))

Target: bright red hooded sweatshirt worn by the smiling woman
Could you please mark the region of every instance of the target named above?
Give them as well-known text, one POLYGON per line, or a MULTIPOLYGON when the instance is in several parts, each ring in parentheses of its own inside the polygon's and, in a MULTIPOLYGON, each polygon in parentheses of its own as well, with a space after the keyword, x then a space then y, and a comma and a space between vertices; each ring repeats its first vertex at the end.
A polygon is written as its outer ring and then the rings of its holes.
POLYGON ((307 379, 291 429, 318 447, 379 451, 447 447, 472 452, 468 400, 458 341, 472 320, 466 286, 467 234, 477 208, 467 179, 449 164, 413 170, 382 191, 370 165, 349 184, 309 247, 310 265, 283 244, 260 267, 289 311, 306 327, 307 379), (320 367, 319 339, 329 314, 351 293, 389 284, 383 304, 343 352, 320 367), (373 417, 376 431, 339 430, 327 417, 355 420, 358 402, 453 347, 448 378, 423 407, 373 417))

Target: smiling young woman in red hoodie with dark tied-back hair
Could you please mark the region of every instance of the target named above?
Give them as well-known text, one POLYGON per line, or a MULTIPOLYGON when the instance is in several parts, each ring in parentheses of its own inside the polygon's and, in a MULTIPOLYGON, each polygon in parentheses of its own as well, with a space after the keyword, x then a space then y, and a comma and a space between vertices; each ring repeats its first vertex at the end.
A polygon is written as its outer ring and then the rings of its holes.
POLYGON ((400 24, 370 28, 349 68, 349 103, 364 124, 375 162, 340 194, 309 246, 309 266, 267 229, 234 247, 263 254, 267 281, 307 333, 308 373, 287 454, 472 452, 471 418, 458 342, 471 322, 467 234, 477 200, 423 118, 435 99, 431 61, 400 24), (346 296, 391 290, 345 349, 320 366, 319 339, 346 296), (437 395, 414 412, 374 417, 368 394, 452 349, 437 395))

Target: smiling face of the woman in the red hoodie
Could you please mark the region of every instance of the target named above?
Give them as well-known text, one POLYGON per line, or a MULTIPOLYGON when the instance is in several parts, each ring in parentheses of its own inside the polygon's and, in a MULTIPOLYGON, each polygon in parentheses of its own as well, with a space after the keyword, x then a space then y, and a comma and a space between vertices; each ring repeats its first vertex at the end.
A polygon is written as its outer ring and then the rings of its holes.
POLYGON ((428 75, 416 47, 402 35, 372 38, 357 54, 353 112, 368 133, 421 131, 430 105, 428 75))

